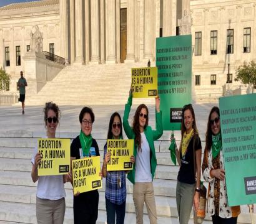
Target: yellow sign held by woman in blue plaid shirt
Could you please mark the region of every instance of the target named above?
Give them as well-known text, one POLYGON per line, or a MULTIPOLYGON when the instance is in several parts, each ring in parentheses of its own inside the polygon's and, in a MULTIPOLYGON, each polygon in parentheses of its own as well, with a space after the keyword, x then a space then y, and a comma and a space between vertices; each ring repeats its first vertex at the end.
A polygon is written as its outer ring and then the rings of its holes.
POLYGON ((107 152, 111 152, 107 171, 132 169, 130 156, 134 152, 134 139, 107 139, 107 152))

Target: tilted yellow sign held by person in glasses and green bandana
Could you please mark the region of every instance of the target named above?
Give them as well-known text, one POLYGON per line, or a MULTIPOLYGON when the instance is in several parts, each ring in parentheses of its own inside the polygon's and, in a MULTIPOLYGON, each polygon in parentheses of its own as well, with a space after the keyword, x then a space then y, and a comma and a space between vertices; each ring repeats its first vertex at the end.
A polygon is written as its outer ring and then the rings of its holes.
POLYGON ((101 189, 101 162, 99 156, 72 160, 74 194, 101 189))

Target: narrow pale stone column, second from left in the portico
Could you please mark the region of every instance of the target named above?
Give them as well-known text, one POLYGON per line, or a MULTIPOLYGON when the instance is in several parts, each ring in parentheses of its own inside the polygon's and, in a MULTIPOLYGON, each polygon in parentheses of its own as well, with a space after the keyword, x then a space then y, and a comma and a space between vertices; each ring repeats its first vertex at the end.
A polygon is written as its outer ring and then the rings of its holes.
POLYGON ((69 13, 70 13, 70 56, 71 56, 71 63, 75 61, 76 57, 76 44, 75 44, 75 2, 74 0, 70 0, 69 6, 69 13))

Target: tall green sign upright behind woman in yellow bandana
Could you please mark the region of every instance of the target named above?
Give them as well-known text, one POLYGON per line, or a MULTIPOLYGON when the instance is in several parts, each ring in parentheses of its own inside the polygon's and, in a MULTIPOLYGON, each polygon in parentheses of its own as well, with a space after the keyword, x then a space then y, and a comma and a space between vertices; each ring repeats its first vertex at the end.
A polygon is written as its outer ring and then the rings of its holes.
POLYGON ((191 35, 157 38, 158 94, 164 130, 179 130, 182 107, 191 102, 191 35))

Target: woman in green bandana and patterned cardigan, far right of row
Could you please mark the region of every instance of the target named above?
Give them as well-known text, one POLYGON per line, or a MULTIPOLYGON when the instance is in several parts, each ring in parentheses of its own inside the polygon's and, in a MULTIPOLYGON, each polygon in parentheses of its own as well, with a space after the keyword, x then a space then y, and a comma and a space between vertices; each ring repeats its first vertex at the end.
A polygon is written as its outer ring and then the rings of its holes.
POLYGON ((202 173, 205 181, 209 182, 208 211, 212 223, 237 223, 240 206, 229 207, 227 200, 220 110, 217 106, 212 108, 208 118, 202 173))

